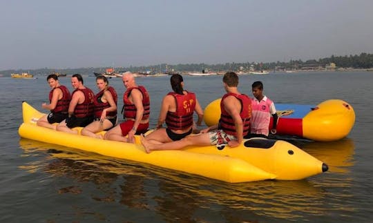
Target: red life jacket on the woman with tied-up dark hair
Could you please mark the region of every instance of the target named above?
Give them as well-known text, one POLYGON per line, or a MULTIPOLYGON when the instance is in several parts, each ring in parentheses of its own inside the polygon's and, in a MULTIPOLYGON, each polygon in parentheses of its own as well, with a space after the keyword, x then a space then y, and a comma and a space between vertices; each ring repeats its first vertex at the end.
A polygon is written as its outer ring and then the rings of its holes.
POLYGON ((180 95, 177 93, 168 93, 176 100, 176 111, 168 112, 166 124, 172 130, 182 130, 193 126, 193 112, 195 110, 195 94, 187 93, 180 95))

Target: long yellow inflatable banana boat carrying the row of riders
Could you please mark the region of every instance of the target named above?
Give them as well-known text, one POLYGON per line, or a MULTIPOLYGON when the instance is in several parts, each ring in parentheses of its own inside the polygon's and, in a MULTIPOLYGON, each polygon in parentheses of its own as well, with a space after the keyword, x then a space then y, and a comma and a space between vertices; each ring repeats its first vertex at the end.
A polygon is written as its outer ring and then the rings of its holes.
MULTIPOLYGON (((26 101, 22 103, 22 112, 23 124, 19 127, 19 135, 23 138, 153 164, 224 182, 300 180, 323 173, 328 168, 292 144, 269 139, 249 139, 236 148, 227 146, 221 151, 215 146, 201 146, 146 154, 139 137, 136 137, 136 144, 128 144, 57 132, 37 126, 37 119, 44 114, 26 101)), ((81 129, 77 128, 79 132, 81 129)))

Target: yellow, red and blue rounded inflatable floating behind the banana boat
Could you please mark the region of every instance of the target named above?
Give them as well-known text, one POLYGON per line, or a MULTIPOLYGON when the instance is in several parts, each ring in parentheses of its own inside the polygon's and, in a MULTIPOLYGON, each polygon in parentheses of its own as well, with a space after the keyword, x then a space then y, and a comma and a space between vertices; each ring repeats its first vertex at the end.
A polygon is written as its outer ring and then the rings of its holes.
MULTIPOLYGON (((279 114, 276 135, 289 135, 331 142, 346 137, 355 123, 354 108, 346 101, 329 99, 317 106, 300 104, 275 104, 279 114)), ((212 101, 204 109, 207 126, 218 124, 220 99, 212 101)), ((273 120, 269 126, 272 126, 273 120)), ((268 126, 268 128, 269 128, 268 126)))

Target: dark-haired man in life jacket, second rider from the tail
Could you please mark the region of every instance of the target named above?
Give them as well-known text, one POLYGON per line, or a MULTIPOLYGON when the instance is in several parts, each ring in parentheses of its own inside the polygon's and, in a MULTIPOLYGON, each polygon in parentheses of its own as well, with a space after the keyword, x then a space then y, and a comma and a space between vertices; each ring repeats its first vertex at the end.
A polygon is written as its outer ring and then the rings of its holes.
POLYGON ((71 85, 75 90, 71 95, 70 105, 68 106, 68 118, 57 126, 57 130, 77 134, 77 131, 71 128, 85 127, 93 122, 93 98, 95 94, 83 85, 82 75, 73 75, 71 85))

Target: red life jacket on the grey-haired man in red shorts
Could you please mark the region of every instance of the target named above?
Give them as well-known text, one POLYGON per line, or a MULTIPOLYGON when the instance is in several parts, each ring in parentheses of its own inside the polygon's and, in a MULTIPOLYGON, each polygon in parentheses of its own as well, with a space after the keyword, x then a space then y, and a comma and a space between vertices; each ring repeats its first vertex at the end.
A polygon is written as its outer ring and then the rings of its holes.
MULTIPOLYGON (((134 87, 135 89, 138 89, 142 93, 142 106, 144 106, 144 114, 142 115, 142 120, 149 119, 150 116, 150 97, 148 94, 148 91, 144 88, 144 86, 137 86, 134 87)), ((135 104, 133 104, 128 97, 131 95, 131 91, 134 88, 128 88, 126 92, 123 95, 123 117, 124 119, 135 119, 136 118, 136 111, 137 108, 135 104)))

